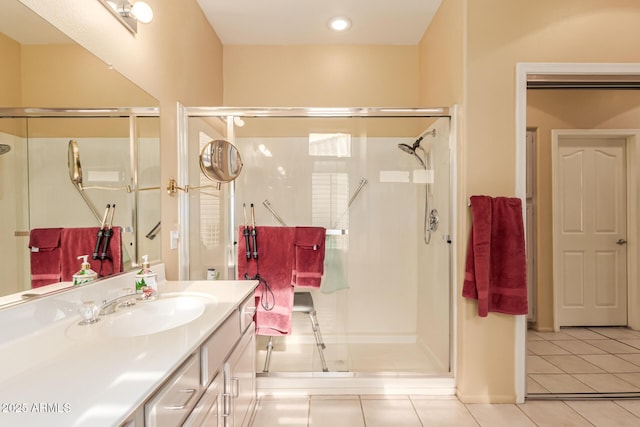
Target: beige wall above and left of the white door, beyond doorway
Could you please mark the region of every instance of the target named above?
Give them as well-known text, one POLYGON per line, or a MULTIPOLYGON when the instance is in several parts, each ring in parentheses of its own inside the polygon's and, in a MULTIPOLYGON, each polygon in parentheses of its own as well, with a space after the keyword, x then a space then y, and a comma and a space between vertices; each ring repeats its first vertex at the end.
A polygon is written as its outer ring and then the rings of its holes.
POLYGON ((639 126, 640 93, 637 91, 528 91, 527 127, 537 129, 537 330, 553 330, 551 130, 637 129, 639 126))

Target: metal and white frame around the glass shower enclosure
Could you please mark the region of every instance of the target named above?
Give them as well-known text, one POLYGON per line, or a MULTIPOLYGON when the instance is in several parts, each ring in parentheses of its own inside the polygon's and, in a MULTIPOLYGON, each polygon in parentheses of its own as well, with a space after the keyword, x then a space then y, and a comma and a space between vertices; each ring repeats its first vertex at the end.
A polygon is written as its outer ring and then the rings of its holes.
MULTIPOLYGON (((457 106, 434 108, 282 108, 282 107, 185 107, 178 104, 178 181, 189 185, 188 121, 191 117, 219 117, 227 122, 227 139, 234 141, 233 118, 448 118, 449 119, 449 372, 439 374, 314 372, 278 373, 257 378, 262 394, 456 394, 456 337, 457 337, 457 106)), ((229 236, 234 235, 234 184, 230 184, 229 236)), ((178 279, 189 280, 189 199, 178 194, 178 279)), ((232 255, 232 257, 235 257, 232 255)))

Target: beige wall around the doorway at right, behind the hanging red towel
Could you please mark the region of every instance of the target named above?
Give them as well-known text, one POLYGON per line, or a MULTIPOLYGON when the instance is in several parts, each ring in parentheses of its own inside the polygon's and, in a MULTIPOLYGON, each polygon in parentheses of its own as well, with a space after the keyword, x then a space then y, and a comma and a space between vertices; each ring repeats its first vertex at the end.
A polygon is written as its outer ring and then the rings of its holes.
MULTIPOLYGON (((444 3, 450 1, 458 2, 444 3)), ((462 144, 468 160, 461 164, 459 189, 464 197, 512 196, 516 64, 636 62, 640 6, 632 0, 461 1, 467 8, 462 144)), ((465 245, 468 231, 459 232, 465 245)), ((458 259, 458 271, 463 262, 458 259)), ((478 319, 469 302, 459 309, 459 394, 467 401, 513 399, 513 317, 478 319)))

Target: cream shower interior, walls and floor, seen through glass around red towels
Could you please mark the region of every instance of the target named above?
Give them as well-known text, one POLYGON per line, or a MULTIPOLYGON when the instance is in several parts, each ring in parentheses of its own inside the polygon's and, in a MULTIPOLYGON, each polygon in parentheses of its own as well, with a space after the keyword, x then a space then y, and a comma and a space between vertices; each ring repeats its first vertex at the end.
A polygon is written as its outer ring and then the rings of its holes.
MULTIPOLYGON (((257 225, 280 225, 264 206, 268 201, 289 226, 348 230, 345 236, 327 238, 337 250, 327 252, 322 289, 311 291, 330 371, 446 373, 452 253, 445 239, 451 233, 449 119, 341 120, 245 120, 234 139, 244 164, 234 182, 236 226, 245 222, 243 203, 247 209, 254 204, 257 225), (333 124, 349 129, 350 147, 329 155, 323 139, 320 147, 313 146, 304 129, 333 124), (300 136, 273 136, 285 126, 300 136), (436 136, 426 134, 433 129, 436 136), (440 227, 428 246, 423 241, 426 184, 414 180, 423 169, 398 149, 401 143, 412 146, 421 133, 421 147, 432 160, 430 209, 440 213, 440 227), (363 179, 367 184, 343 215, 363 179)), ((270 372, 320 370, 308 317, 294 314, 292 325, 291 336, 275 341, 270 372)), ((261 372, 266 342, 258 343, 256 369, 261 372)))

